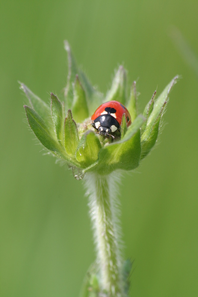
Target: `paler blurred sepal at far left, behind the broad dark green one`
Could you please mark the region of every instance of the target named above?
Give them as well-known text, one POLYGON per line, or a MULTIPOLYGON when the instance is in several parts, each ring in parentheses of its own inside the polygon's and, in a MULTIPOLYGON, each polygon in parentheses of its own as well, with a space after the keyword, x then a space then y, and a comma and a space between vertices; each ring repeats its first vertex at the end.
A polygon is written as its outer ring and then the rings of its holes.
MULTIPOLYGON (((20 82, 19 82, 20 83, 20 82)), ((36 113, 43 119, 47 128, 50 130, 52 135, 55 135, 53 129, 53 122, 51 119, 50 107, 37 95, 35 95, 24 83, 20 83, 20 89, 26 94, 30 106, 36 111, 36 113)))

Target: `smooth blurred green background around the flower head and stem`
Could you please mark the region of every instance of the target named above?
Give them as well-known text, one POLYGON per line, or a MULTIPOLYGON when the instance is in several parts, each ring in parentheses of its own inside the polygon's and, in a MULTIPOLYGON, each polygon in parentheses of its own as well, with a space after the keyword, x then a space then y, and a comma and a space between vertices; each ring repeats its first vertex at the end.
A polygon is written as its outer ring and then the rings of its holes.
MULTIPOLYGON (((159 145, 121 186, 131 296, 198 296, 198 77, 170 35, 198 56, 197 1, 1 1, 0 296, 78 296, 94 261, 83 184, 43 155, 28 129, 18 80, 45 102, 63 97, 67 39, 102 92, 121 63, 137 80, 139 111, 170 94, 159 145)), ((190 55, 190 53, 189 53, 190 55)))

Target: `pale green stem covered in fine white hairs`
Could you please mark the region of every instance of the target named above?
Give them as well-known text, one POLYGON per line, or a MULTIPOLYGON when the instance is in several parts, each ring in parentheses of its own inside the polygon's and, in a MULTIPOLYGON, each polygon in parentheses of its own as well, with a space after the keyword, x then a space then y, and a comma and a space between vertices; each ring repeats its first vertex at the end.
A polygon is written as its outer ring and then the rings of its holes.
POLYGON ((89 196, 94 229, 97 263, 102 289, 109 297, 123 296, 121 274, 119 209, 116 200, 120 176, 118 173, 99 175, 86 173, 85 187, 89 196))

